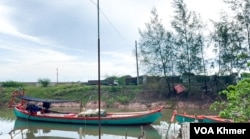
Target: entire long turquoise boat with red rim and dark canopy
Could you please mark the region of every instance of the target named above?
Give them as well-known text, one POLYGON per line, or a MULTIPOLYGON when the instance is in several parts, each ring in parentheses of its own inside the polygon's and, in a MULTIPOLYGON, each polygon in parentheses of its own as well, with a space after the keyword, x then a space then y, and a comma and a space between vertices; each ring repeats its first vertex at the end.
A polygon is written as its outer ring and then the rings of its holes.
POLYGON ((162 107, 141 112, 106 112, 105 110, 88 110, 82 112, 58 112, 51 111, 51 103, 69 102, 67 100, 45 100, 33 98, 25 95, 15 95, 22 100, 14 107, 14 114, 17 118, 57 122, 68 124, 91 124, 98 125, 148 125, 154 123, 161 117, 162 107), (30 102, 42 102, 43 107, 39 107, 30 102))

